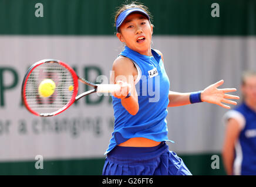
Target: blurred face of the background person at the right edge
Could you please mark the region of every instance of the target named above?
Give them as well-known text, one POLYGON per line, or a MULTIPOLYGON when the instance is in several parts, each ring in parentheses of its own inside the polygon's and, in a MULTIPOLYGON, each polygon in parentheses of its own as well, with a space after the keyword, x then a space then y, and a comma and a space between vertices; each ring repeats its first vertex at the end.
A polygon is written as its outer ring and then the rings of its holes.
POLYGON ((256 103, 256 75, 245 78, 242 92, 249 102, 256 103))

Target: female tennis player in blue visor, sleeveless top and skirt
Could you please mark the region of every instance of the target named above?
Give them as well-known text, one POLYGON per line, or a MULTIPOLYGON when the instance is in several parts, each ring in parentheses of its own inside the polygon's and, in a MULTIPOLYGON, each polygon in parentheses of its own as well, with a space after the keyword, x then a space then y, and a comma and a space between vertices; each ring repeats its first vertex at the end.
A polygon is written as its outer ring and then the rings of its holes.
POLYGON ((224 82, 221 80, 200 92, 169 91, 163 55, 151 49, 153 25, 146 6, 123 5, 116 13, 115 25, 125 48, 113 63, 112 81, 121 89, 112 96, 114 131, 103 175, 191 175, 165 143, 171 141, 167 137, 167 107, 208 102, 229 109, 222 102, 236 105, 228 99, 238 96, 227 94, 236 89, 217 89, 224 82))

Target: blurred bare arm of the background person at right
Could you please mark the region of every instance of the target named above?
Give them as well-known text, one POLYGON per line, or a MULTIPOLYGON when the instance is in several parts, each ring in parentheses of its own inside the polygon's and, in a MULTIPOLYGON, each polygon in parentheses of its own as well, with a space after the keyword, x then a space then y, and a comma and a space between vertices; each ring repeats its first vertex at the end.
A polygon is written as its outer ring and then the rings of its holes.
POLYGON ((227 121, 224 145, 222 151, 223 164, 227 175, 233 174, 234 165, 234 150, 235 143, 237 143, 239 134, 241 131, 241 126, 234 118, 230 118, 227 121))

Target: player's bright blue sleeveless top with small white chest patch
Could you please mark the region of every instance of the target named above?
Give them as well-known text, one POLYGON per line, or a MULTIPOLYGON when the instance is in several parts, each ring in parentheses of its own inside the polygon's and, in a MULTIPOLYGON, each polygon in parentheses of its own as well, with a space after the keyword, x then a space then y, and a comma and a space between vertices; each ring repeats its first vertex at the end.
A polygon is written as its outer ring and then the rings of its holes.
POLYGON ((139 69, 140 79, 135 85, 139 111, 134 116, 130 115, 123 107, 121 99, 112 96, 114 131, 105 154, 109 153, 116 145, 133 137, 144 137, 154 141, 171 141, 168 140, 166 122, 170 82, 161 56, 153 49, 151 53, 153 56, 144 56, 127 46, 120 53, 121 56, 130 58, 136 67, 139 67, 137 69, 139 69))

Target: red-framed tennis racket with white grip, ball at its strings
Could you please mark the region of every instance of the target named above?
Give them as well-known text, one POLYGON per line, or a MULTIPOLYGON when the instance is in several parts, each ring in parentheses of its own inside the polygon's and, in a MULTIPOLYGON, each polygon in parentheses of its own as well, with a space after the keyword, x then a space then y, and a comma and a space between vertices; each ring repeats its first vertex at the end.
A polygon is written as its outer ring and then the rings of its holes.
POLYGON ((78 77, 69 65, 59 60, 41 60, 33 64, 22 82, 22 99, 29 112, 36 116, 55 116, 90 93, 111 93, 118 84, 93 84, 78 77), (78 81, 93 89, 78 95, 78 81))

